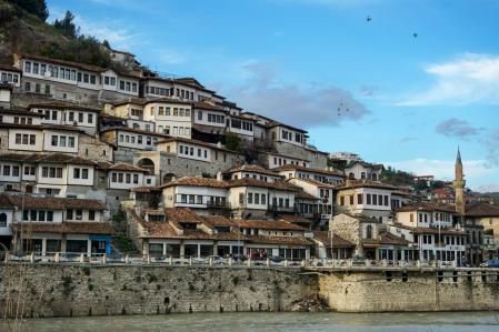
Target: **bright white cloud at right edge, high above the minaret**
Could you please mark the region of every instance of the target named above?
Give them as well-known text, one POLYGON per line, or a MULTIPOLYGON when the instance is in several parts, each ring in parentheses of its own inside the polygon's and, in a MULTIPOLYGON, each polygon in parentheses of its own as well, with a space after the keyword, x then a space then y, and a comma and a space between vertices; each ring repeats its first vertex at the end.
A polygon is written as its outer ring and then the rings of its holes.
POLYGON ((466 53, 425 71, 436 83, 398 105, 499 103, 499 56, 466 53))

